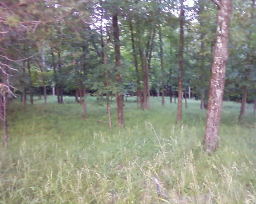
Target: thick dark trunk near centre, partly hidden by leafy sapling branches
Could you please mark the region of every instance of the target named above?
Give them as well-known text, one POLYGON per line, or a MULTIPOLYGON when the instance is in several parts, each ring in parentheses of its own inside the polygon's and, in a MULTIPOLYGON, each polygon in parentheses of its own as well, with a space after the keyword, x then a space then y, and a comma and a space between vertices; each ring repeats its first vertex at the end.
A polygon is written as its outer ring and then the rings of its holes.
MULTIPOLYGON (((115 42, 115 60, 116 60, 116 67, 118 69, 121 66, 121 53, 120 53, 120 40, 119 40, 119 28, 118 28, 118 19, 117 14, 113 15, 112 18, 113 23, 113 37, 115 42)), ((117 72, 117 83, 119 85, 122 84, 122 78, 120 74, 117 72)), ((120 92, 116 93, 116 102, 117 102, 117 116, 118 116, 118 126, 124 126, 124 101, 123 95, 120 92)))

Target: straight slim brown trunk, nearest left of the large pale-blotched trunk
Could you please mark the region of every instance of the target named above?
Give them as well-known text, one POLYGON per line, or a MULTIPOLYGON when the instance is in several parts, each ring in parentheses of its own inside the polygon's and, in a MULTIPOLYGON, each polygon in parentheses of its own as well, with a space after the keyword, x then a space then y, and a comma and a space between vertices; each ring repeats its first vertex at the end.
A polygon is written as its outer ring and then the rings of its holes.
POLYGON ((183 47, 184 47, 184 0, 180 2, 180 41, 179 41, 179 73, 178 73, 178 111, 177 122, 182 120, 182 61, 183 61, 183 47))

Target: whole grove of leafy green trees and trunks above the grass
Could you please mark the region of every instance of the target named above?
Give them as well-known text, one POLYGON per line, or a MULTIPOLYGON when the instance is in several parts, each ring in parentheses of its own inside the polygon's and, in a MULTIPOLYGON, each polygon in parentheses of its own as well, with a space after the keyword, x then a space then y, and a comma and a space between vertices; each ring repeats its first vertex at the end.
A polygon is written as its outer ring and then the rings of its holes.
MULTIPOLYGON (((20 96, 54 93, 116 98, 123 127, 124 95, 150 111, 150 97, 195 97, 207 108, 204 144, 218 146, 222 100, 256 109, 255 0, 1 0, 0 117, 7 147, 7 106, 20 96)), ((29 100, 28 100, 29 98, 29 100)), ((174 100, 173 100, 174 98, 174 100)), ((200 107, 199 107, 200 108, 200 107)), ((11 124, 9 124, 11 125, 11 124)))

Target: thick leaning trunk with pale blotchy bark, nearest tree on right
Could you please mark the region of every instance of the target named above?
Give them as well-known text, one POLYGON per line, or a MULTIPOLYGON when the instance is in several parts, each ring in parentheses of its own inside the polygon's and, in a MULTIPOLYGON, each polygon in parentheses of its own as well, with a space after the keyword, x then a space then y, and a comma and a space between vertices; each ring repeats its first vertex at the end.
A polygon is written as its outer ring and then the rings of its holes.
POLYGON ((204 150, 211 153, 218 147, 219 122, 225 85, 226 62, 228 59, 228 35, 232 14, 232 0, 212 0, 217 5, 217 38, 213 52, 210 90, 207 108, 204 150))

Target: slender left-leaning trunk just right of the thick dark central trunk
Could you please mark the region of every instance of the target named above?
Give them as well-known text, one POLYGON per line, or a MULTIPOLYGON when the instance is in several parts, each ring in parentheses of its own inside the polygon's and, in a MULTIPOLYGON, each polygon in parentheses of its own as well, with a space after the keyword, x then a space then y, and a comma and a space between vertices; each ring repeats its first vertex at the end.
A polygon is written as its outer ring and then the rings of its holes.
POLYGON ((140 107, 142 108, 143 102, 142 102, 141 88, 140 88, 140 74, 139 74, 138 59, 137 59, 137 53, 135 50, 134 34, 133 34, 131 21, 130 21, 130 31, 131 31, 132 53, 133 53, 134 65, 135 65, 135 70, 137 75, 137 96, 139 97, 140 107))

